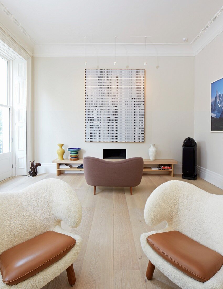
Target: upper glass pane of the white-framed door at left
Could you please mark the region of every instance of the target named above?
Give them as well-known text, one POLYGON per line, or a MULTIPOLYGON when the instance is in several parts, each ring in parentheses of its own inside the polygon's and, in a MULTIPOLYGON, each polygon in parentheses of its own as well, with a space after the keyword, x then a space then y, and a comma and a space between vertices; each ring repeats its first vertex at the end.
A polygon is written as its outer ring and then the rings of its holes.
POLYGON ((7 61, 0 57, 0 104, 7 105, 7 61))

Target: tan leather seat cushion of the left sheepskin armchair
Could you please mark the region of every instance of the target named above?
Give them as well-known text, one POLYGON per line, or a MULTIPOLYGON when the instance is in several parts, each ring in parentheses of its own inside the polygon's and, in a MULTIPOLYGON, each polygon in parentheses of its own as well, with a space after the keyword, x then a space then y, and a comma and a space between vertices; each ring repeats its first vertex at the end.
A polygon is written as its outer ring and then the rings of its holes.
POLYGON ((3 282, 14 285, 28 279, 61 259, 75 243, 70 236, 47 231, 6 250, 0 255, 3 282))

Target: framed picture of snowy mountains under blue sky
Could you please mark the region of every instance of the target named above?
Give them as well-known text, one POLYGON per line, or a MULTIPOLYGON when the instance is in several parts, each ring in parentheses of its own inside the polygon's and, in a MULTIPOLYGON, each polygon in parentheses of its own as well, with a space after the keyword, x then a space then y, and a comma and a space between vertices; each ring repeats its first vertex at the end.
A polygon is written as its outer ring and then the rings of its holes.
POLYGON ((223 78, 211 83, 211 132, 223 132, 223 78))

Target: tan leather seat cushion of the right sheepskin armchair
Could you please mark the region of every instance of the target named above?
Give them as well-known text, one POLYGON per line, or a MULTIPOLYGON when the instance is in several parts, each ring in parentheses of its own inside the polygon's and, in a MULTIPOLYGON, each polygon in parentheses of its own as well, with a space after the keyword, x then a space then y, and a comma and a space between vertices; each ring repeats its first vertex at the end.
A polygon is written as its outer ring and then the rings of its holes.
POLYGON ((223 256, 178 231, 157 233, 147 242, 161 257, 188 276, 205 282, 223 265, 223 256))

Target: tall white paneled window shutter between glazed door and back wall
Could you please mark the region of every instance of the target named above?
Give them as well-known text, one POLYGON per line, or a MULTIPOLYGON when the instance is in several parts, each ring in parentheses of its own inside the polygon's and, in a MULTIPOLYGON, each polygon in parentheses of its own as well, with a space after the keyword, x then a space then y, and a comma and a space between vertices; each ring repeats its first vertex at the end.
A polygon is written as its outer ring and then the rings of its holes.
POLYGON ((26 61, 15 62, 15 153, 16 176, 27 175, 26 61))

